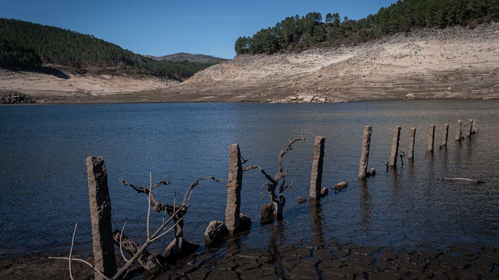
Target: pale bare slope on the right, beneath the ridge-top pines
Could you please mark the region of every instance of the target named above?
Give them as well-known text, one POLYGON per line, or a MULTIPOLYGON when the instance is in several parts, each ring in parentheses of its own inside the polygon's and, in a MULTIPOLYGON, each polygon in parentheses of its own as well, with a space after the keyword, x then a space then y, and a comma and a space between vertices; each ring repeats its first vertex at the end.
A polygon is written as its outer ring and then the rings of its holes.
POLYGON ((174 89, 198 101, 499 98, 499 24, 419 30, 299 54, 240 55, 174 89))

